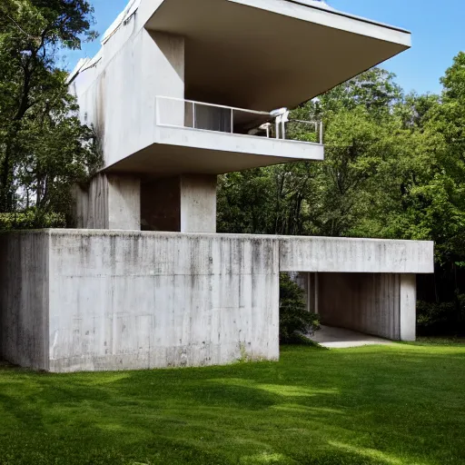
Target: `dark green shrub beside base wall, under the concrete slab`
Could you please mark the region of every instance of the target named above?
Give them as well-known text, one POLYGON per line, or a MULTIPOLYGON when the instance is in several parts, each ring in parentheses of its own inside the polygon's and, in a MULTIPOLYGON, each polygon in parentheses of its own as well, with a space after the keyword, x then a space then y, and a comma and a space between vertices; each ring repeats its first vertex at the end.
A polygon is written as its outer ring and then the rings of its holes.
POLYGON ((304 293, 289 274, 280 279, 280 342, 286 344, 311 342, 308 336, 320 328, 319 316, 308 312, 304 293))

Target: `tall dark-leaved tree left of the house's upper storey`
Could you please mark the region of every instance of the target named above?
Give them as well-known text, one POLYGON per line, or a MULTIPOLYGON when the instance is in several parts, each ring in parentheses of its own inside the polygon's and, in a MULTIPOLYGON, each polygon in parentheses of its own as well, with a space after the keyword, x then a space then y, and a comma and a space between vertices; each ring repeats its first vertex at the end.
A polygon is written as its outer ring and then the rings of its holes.
POLYGON ((59 47, 94 38, 92 13, 86 0, 0 5, 0 212, 63 210, 71 183, 99 163, 55 64, 59 47))

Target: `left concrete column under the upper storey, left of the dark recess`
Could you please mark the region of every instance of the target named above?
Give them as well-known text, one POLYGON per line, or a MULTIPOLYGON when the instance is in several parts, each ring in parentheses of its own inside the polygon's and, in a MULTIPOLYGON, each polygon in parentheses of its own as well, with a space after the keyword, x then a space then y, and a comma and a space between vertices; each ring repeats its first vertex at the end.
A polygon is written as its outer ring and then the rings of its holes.
POLYGON ((140 231, 140 179, 101 173, 89 185, 76 186, 74 218, 79 229, 140 231))

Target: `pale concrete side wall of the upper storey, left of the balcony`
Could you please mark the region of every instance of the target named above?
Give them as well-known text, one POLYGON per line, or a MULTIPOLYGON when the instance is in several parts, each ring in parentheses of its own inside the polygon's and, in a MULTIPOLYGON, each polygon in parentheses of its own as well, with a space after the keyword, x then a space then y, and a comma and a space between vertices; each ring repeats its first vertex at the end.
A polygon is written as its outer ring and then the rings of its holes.
MULTIPOLYGON (((135 15, 107 42, 95 66, 77 77, 70 92, 83 123, 94 124, 99 135, 104 167, 160 142, 155 97, 184 98, 183 68, 183 37, 148 32, 135 15)), ((174 111, 168 117, 183 123, 183 108, 174 111)))

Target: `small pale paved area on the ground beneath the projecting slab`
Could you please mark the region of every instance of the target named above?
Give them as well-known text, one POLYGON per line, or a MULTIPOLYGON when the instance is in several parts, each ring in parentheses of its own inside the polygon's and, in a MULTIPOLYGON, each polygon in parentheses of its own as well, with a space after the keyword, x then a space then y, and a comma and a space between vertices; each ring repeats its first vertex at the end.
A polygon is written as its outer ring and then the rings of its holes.
POLYGON ((320 331, 316 331, 311 337, 312 341, 318 342, 328 349, 347 349, 349 347, 361 347, 364 345, 387 345, 392 341, 363 334, 362 332, 322 326, 320 331))

